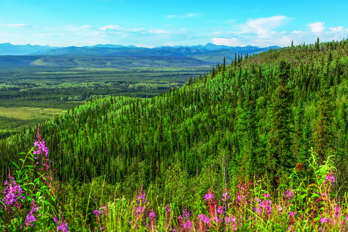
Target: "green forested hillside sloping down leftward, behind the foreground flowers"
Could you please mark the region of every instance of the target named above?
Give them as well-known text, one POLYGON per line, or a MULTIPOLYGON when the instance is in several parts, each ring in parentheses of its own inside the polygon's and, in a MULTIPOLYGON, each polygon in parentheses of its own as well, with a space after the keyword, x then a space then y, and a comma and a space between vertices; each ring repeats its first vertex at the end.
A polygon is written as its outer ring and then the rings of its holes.
MULTIPOLYGON (((334 160, 347 191, 348 39, 238 56, 151 98, 95 97, 40 125, 60 180, 105 182, 132 198, 194 207, 241 181, 267 179, 272 197, 295 169, 310 183, 313 147, 334 160)), ((32 146, 36 128, 0 142, 0 173, 32 146)), ((220 197, 221 198, 221 197, 220 197)))

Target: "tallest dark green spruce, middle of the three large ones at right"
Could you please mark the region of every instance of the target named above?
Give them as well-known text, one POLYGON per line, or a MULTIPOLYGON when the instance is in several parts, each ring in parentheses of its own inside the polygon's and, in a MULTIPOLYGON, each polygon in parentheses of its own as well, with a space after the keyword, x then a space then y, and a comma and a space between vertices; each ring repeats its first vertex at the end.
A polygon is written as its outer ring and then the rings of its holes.
POLYGON ((289 77, 290 65, 285 61, 280 61, 278 87, 271 97, 268 109, 268 127, 270 131, 268 134, 266 168, 272 187, 270 191, 274 194, 274 197, 276 197, 278 186, 287 182, 290 169, 295 166, 291 152, 289 77))

